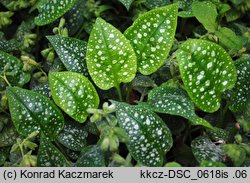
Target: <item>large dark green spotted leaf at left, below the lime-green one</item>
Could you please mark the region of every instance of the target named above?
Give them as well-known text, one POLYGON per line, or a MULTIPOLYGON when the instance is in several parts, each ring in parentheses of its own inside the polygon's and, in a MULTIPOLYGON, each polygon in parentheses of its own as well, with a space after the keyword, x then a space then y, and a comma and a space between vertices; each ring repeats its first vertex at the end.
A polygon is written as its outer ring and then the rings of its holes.
POLYGON ((19 134, 28 136, 41 131, 55 139, 64 125, 61 111, 49 98, 34 91, 18 87, 7 88, 12 121, 19 134))

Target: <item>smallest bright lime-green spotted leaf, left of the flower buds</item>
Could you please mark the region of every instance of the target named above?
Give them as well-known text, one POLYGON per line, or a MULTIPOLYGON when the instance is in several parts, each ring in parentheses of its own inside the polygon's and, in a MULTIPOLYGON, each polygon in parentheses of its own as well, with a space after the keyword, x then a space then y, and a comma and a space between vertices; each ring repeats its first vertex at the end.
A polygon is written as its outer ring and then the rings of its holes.
POLYGON ((49 83, 55 103, 76 121, 86 121, 88 108, 97 108, 99 96, 92 83, 74 72, 50 72, 49 83))

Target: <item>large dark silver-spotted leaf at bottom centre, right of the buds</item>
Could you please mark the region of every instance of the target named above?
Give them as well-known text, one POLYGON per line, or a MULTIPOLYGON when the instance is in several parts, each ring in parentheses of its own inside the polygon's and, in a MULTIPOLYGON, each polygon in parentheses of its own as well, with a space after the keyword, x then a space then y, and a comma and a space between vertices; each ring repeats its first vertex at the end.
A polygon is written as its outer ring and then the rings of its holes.
POLYGON ((115 102, 119 126, 128 137, 128 148, 136 161, 145 166, 162 166, 173 139, 162 119, 150 110, 115 102))

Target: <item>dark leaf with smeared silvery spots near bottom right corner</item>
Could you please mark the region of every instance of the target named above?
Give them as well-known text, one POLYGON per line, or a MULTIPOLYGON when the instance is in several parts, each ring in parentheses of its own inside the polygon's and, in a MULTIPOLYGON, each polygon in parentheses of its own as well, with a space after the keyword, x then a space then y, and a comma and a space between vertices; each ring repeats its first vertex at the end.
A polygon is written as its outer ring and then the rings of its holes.
POLYGON ((191 143, 192 152, 196 160, 202 161, 218 161, 222 162, 225 152, 221 146, 215 145, 209 138, 205 136, 194 139, 191 143))

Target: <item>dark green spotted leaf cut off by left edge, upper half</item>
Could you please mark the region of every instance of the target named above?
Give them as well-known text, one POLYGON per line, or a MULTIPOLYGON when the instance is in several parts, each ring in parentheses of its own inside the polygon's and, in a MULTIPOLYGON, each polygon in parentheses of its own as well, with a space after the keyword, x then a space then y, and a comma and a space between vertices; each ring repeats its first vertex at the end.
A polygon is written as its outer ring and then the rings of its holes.
POLYGON ((30 80, 30 74, 23 72, 23 63, 19 59, 0 51, 0 76, 4 75, 10 84, 20 87, 30 80))

